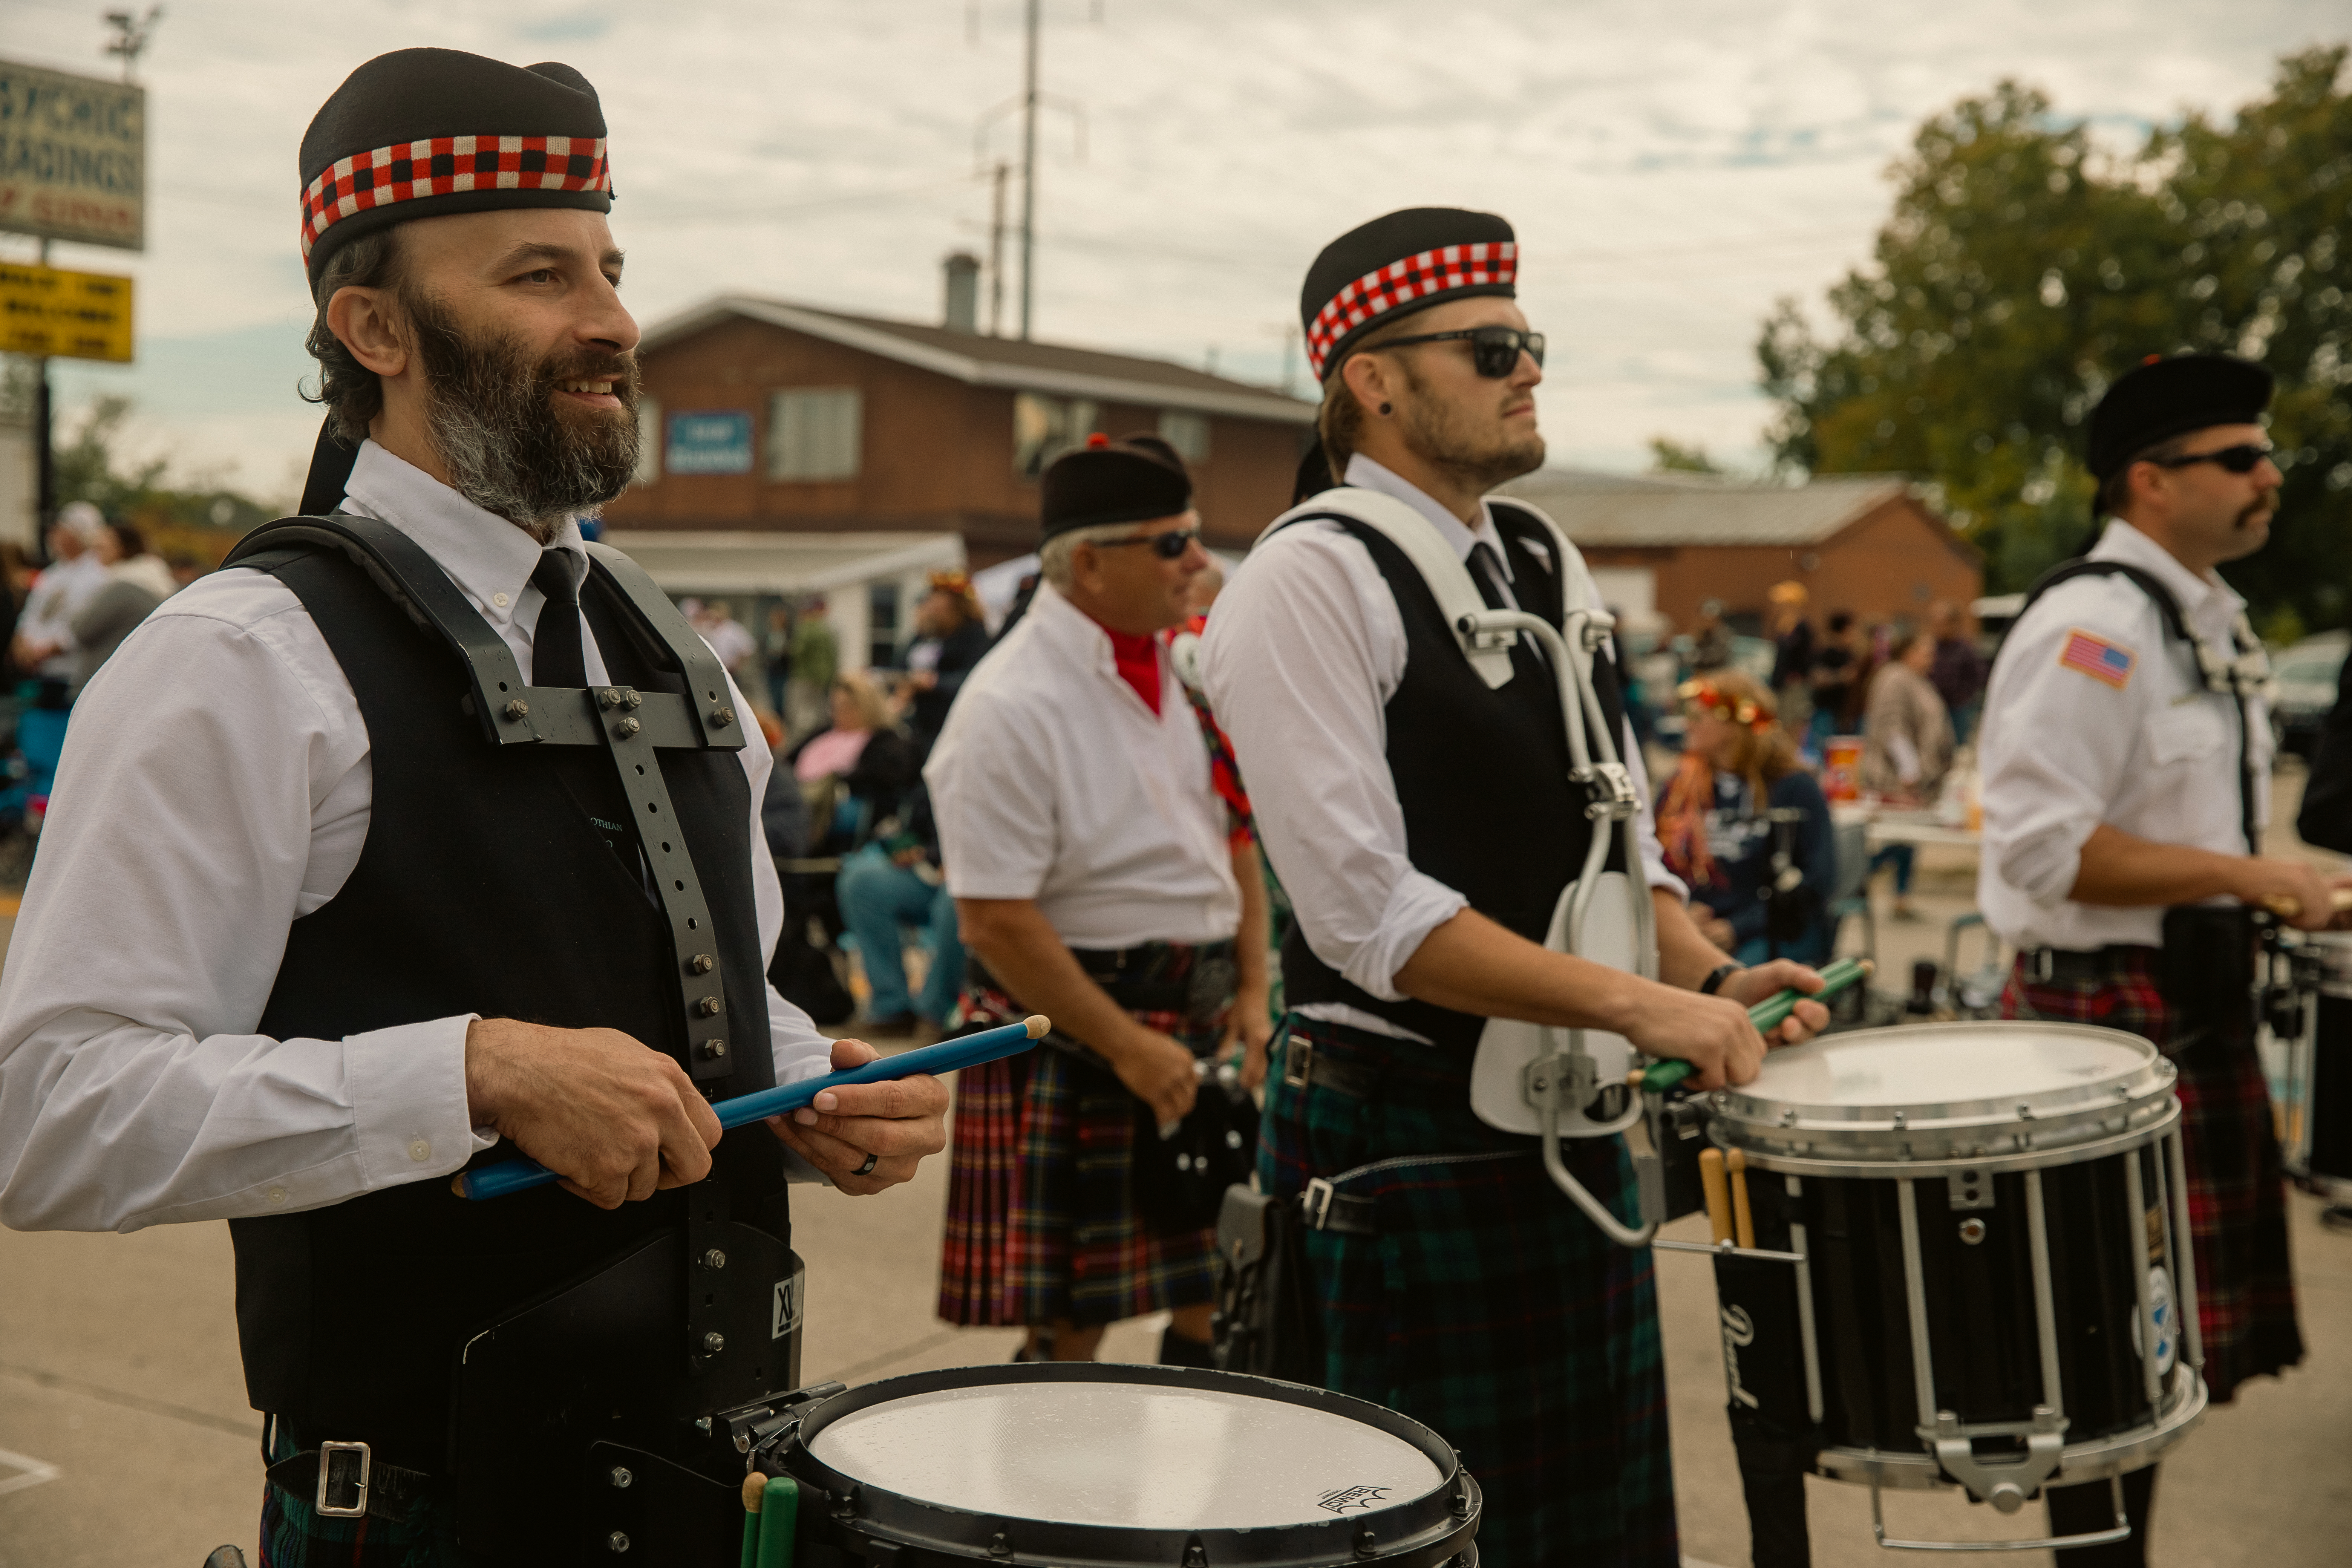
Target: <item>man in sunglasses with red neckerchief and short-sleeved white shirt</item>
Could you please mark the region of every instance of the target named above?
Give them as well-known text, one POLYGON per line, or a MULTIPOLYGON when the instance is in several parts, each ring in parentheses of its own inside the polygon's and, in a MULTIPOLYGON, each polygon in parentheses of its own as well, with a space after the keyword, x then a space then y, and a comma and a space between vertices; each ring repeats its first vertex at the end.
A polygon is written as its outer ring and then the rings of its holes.
POLYGON ((924 766, 974 959, 964 1013, 1054 1020, 1042 1051, 957 1081, 941 1316, 1021 1324, 1018 1359, 1089 1361, 1110 1324, 1169 1312, 1160 1359, 1209 1366, 1223 1187, 1197 1213, 1148 1178, 1190 1147, 1197 1128, 1160 1128, 1192 1114, 1221 1041, 1263 1072, 1272 1034, 1258 851, 1164 639, 1209 552, 1152 435, 1096 435, 1040 489, 1044 581, 924 766))

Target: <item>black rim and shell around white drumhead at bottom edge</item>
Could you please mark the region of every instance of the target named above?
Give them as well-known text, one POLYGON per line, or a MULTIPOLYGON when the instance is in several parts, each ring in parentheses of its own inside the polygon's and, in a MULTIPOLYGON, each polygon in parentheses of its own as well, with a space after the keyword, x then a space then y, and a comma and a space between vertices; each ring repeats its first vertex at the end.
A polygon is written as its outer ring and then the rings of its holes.
POLYGON ((1395 1410, 1275 1378, 1176 1366, 1101 1366, 1094 1361, 908 1373, 816 1401, 755 1462, 767 1474, 788 1474, 800 1483, 800 1528, 795 1535, 800 1568, 868 1568, 873 1561, 891 1561, 901 1568, 969 1568, 971 1561, 990 1556, 1021 1563, 1044 1561, 1056 1568, 1141 1568, 1188 1561, 1216 1568, 1352 1568, 1355 1563, 1477 1568, 1479 1488, 1444 1439, 1395 1410), (1329 1523, 1157 1530, 974 1514, 861 1483, 809 1453, 809 1441, 826 1425, 854 1410, 910 1394, 995 1382, 1148 1382, 1305 1403, 1414 1443, 1437 1465, 1442 1481, 1421 1497, 1374 1514, 1334 1516, 1329 1523), (993 1552, 993 1547, 997 1549, 993 1552), (1200 1556, 1192 1556, 1195 1547, 1200 1556))

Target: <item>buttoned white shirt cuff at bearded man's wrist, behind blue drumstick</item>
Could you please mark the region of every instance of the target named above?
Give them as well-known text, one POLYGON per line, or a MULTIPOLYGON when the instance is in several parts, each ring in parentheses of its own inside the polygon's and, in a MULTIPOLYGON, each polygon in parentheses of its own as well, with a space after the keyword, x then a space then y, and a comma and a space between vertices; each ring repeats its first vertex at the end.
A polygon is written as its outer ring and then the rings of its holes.
POLYGON ((475 1018, 343 1037, 343 1093, 369 1192, 449 1175, 496 1143, 466 1107, 466 1030, 475 1018))

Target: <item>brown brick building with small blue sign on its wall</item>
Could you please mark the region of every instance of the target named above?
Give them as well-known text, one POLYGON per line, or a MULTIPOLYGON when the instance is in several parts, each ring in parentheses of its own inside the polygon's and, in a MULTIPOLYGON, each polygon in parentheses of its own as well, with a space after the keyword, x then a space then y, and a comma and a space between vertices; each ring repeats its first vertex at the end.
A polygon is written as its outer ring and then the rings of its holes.
POLYGON ((727 296, 644 334, 640 482, 614 529, 960 534, 974 567, 1037 543, 1037 473, 1103 430, 1157 430, 1202 524, 1247 548, 1291 498, 1315 404, 1164 360, 727 296))

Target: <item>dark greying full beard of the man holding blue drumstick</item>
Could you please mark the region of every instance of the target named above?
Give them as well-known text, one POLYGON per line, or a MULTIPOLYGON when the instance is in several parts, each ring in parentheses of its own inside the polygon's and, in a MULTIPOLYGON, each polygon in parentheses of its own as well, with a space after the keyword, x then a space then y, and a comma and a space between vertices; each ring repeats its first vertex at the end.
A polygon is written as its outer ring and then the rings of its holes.
POLYGON ((548 543, 564 517, 595 510, 637 473, 637 360, 572 350, 532 364, 510 336, 468 334, 440 301, 405 301, 426 371, 426 428, 449 489, 548 543), (612 381, 619 409, 555 395, 564 381, 612 381))

